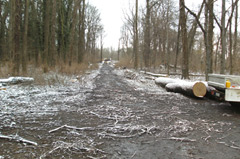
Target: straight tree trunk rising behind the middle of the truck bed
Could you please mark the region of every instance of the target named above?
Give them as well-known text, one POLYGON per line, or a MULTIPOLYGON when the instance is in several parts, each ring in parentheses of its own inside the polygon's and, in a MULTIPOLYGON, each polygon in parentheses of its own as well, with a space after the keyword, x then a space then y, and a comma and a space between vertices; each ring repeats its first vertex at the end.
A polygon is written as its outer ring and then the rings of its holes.
POLYGON ((226 12, 226 1, 222 0, 222 18, 221 18, 221 44, 222 44, 222 54, 221 54, 221 70, 220 74, 225 73, 225 55, 226 55, 226 26, 225 26, 225 12, 226 12))

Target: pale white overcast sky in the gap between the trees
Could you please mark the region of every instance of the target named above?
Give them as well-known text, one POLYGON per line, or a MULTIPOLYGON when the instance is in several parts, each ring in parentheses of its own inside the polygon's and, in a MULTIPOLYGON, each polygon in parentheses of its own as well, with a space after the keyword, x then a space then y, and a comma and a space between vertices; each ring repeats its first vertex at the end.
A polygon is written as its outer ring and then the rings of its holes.
MULTIPOLYGON (((134 6, 135 0, 88 0, 101 14, 105 29, 104 47, 117 49, 120 28, 123 25, 124 11, 134 6)), ((139 0, 139 6, 145 6, 146 0, 139 0)), ((174 0, 178 4, 178 0, 174 0)), ((196 8, 202 0, 185 0, 190 8, 196 8)))

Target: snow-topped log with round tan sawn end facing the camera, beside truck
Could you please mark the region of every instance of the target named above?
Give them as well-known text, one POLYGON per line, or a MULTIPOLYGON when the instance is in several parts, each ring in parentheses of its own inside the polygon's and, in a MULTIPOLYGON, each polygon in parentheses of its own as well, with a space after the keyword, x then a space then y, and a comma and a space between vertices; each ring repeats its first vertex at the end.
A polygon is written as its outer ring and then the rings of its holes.
POLYGON ((182 93, 187 96, 203 98, 207 93, 207 86, 203 82, 186 82, 169 83, 166 85, 169 92, 182 93))

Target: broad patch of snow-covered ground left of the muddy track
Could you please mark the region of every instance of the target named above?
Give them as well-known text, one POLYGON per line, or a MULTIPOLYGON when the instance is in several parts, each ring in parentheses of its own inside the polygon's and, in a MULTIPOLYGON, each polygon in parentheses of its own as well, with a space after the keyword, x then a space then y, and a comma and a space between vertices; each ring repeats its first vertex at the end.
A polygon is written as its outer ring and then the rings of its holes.
MULTIPOLYGON (((16 117, 54 115, 59 110, 73 111, 73 107, 84 105, 86 92, 95 87, 94 79, 98 74, 99 70, 93 70, 73 83, 70 82, 73 76, 49 73, 44 75, 49 85, 7 85, 6 90, 0 90, 0 121, 12 127, 17 123, 16 117)), ((19 80, 23 78, 2 81, 15 83, 19 80)))

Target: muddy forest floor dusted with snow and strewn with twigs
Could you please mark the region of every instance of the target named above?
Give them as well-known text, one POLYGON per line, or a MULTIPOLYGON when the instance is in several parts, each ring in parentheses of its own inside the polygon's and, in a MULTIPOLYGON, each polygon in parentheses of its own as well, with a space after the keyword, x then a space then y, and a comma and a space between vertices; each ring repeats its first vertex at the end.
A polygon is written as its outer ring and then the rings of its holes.
POLYGON ((13 138, 0 159, 239 158, 240 109, 131 77, 103 64, 79 82, 0 91, 0 135, 13 138))

